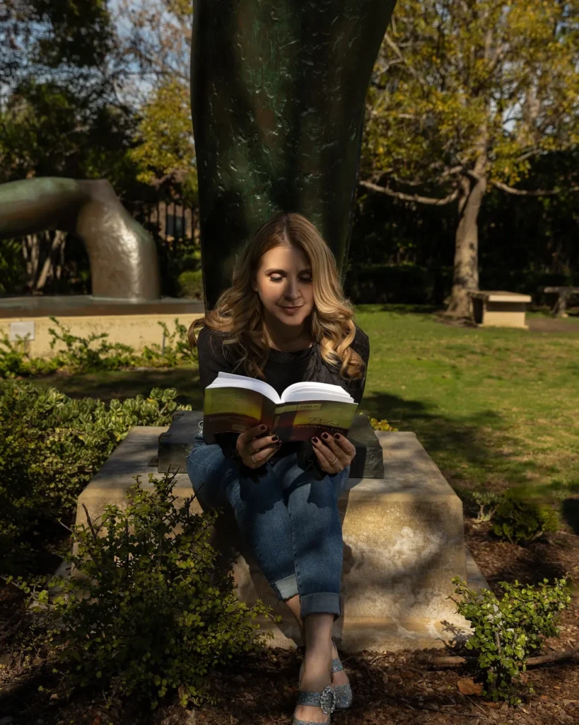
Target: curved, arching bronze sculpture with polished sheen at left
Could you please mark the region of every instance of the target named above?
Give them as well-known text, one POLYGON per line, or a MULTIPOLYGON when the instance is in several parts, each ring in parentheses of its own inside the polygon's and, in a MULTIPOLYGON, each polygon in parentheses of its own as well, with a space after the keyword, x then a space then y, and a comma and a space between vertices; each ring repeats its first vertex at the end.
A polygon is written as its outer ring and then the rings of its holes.
POLYGON ((151 235, 105 180, 44 177, 0 184, 0 239, 59 229, 85 244, 94 297, 159 299, 151 235))

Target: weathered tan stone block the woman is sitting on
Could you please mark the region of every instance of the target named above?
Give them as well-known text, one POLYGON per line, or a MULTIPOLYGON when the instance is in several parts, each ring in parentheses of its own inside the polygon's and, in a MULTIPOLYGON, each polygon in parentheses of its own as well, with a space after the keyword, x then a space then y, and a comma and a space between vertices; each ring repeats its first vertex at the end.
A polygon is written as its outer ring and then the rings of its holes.
MULTIPOLYGON (((109 503, 126 504, 127 489, 148 474, 158 439, 166 428, 135 427, 80 494, 77 523, 85 523, 83 503, 93 521, 109 503)), ((413 433, 376 431, 384 455, 384 479, 350 479, 339 500, 343 521, 344 616, 335 635, 348 651, 379 652, 406 647, 440 647, 468 634, 468 623, 447 597, 451 579, 473 587, 486 582, 465 549, 462 503, 413 433)), ((177 473, 176 506, 193 494, 186 473, 177 473)), ((199 511, 195 501, 192 510, 199 511)), ((287 608, 274 597, 255 561, 232 528, 217 526, 216 547, 234 552, 232 568, 238 595, 252 604, 259 597, 282 616, 272 646, 295 647, 299 631, 287 608)))

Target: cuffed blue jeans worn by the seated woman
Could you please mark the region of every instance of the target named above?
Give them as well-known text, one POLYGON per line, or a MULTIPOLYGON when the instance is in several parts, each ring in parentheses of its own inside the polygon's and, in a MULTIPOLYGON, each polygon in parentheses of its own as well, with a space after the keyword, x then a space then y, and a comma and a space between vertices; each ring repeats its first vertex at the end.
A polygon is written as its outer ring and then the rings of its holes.
POLYGON ((350 476, 316 480, 292 453, 258 469, 226 458, 202 434, 187 473, 203 510, 231 508, 242 537, 279 600, 300 595, 302 618, 342 613, 342 523, 338 497, 350 476))

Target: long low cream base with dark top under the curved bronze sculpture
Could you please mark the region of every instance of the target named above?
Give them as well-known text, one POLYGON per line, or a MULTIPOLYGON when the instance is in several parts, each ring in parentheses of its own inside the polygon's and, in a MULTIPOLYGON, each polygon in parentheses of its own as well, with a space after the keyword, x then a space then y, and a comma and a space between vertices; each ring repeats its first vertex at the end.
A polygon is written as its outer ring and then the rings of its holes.
POLYGON ((57 295, 54 297, 0 297, 0 337, 25 338, 32 357, 51 357, 49 328, 55 317, 71 334, 79 337, 108 334, 109 342, 122 342, 140 352, 145 345, 163 345, 165 323, 172 332, 175 318, 190 326, 205 314, 203 302, 193 299, 162 297, 159 300, 127 300, 92 295, 57 295))

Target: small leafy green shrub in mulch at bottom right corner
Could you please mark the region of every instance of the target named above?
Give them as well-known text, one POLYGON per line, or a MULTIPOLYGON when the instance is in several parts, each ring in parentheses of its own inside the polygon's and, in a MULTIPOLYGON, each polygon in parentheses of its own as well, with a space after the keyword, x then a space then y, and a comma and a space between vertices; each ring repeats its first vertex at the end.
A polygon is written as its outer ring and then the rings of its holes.
POLYGON ((458 578, 452 582, 460 600, 450 598, 473 627, 466 646, 478 653, 483 695, 520 703, 520 673, 542 639, 558 634, 557 617, 571 601, 567 579, 555 579, 552 585, 544 579, 537 586, 501 581, 504 595, 500 600, 489 589, 468 589, 458 578))

